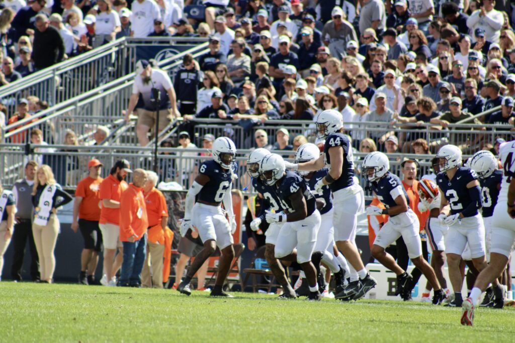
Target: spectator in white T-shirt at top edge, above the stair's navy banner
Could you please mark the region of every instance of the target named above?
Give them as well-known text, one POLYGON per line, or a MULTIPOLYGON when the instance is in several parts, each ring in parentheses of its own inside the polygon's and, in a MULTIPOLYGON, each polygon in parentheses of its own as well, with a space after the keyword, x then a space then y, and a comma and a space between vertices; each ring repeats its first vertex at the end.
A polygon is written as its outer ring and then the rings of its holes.
POLYGON ((161 11, 154 0, 132 3, 131 37, 147 37, 154 31, 154 21, 161 20, 161 11))

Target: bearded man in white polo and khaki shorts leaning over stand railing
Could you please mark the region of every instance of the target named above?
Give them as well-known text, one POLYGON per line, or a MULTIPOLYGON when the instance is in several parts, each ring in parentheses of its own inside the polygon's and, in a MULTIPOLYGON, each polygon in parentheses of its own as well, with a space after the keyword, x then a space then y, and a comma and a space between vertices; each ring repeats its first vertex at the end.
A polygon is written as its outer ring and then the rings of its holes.
POLYGON ((132 95, 129 99, 129 106, 125 113, 125 120, 128 122, 134 107, 138 104, 140 94, 143 98, 143 106, 138 109, 138 123, 136 124, 136 135, 141 146, 149 142, 148 132, 156 127, 156 120, 159 118, 159 131, 162 131, 171 121, 171 117, 181 116, 177 109, 176 95, 173 84, 166 71, 152 69, 147 60, 139 60, 136 63, 136 79, 132 86, 132 95), (157 104, 159 116, 156 118, 156 105, 152 89, 160 92, 160 101, 157 104))

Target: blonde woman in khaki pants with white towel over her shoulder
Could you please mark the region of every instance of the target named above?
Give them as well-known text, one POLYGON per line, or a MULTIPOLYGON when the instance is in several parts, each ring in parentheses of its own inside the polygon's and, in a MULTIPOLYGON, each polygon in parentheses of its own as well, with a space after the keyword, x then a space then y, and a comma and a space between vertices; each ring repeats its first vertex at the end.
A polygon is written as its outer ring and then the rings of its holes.
POLYGON ((63 191, 56 182, 52 168, 47 165, 40 166, 32 188, 32 234, 38 250, 41 282, 52 283, 56 267, 54 249, 60 230, 57 208, 72 200, 73 197, 63 191))

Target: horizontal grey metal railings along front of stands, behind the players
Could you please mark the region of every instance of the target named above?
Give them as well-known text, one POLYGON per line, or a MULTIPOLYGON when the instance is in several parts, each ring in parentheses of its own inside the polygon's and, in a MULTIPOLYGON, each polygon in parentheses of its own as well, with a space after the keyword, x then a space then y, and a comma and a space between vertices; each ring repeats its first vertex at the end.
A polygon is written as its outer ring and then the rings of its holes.
MULTIPOLYGON (((475 151, 480 150, 486 143, 493 143, 496 138, 503 137, 506 140, 513 139, 512 131, 509 125, 489 125, 485 130, 483 124, 457 124, 450 125, 449 130, 435 130, 431 127, 418 128, 396 128, 390 123, 362 122, 347 123, 349 126, 354 125, 348 130, 352 137, 369 137, 381 136, 386 132, 393 131, 400 139, 402 146, 405 141, 413 141, 416 138, 425 138, 434 153, 436 150, 447 143, 453 143, 461 147, 467 156, 475 151)), ((275 133, 278 128, 285 127, 289 130, 291 138, 297 135, 304 135, 308 141, 315 141, 315 128, 311 121, 294 121, 294 120, 270 120, 264 125, 254 127, 251 132, 245 132, 242 127, 237 125, 237 121, 203 119, 196 122, 194 128, 194 137, 192 141, 197 146, 201 146, 202 137, 206 133, 215 136, 231 137, 238 148, 237 160, 239 164, 239 179, 235 183, 235 187, 246 193, 251 192, 250 180, 245 174, 245 159, 250 152, 248 150, 254 145, 254 131, 263 129, 268 133, 268 143, 275 143, 275 133), (250 137, 250 138, 249 138, 250 137), (243 148, 243 149, 242 149, 243 148)), ((48 146, 25 146, 22 144, 3 144, 0 149, 3 151, 0 159, 0 168, 4 171, 2 183, 10 185, 16 178, 23 173, 23 165, 30 158, 40 158, 43 163, 52 166, 56 174, 56 178, 65 188, 73 188, 78 180, 85 176, 87 172, 87 162, 90 158, 96 157, 105 165, 104 173, 107 174, 109 168, 114 161, 120 158, 128 159, 133 168, 151 169, 152 167, 152 148, 138 147, 137 145, 102 145, 102 146, 62 146, 53 145, 51 150, 42 153, 38 152, 38 148, 46 148, 48 146)), ((278 151, 286 158, 293 158, 295 152, 278 151)), ((430 152, 431 154, 431 152, 430 152)), ((430 172, 430 159, 432 155, 415 155, 415 154, 388 154, 391 160, 391 169, 399 174, 400 164, 403 158, 417 158, 421 165, 421 174, 430 172)), ((160 179, 163 182, 176 182, 183 188, 187 188, 196 175, 196 168, 200 160, 209 158, 209 151, 205 149, 177 149, 177 148, 159 148, 159 170, 160 179)), ((360 160, 365 153, 356 151, 354 153, 356 170, 359 171, 360 160)), ((358 174, 357 174, 358 175, 358 174)), ((358 175, 359 176, 359 175, 358 175)), ((360 183, 365 184, 364 180, 360 183)))

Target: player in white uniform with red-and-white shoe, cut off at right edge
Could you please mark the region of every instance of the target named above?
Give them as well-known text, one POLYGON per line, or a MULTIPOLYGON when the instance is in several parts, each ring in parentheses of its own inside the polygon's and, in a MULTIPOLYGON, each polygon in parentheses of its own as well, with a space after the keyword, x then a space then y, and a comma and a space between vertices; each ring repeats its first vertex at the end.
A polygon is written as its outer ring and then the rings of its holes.
POLYGON ((499 157, 504 175, 497 205, 493 210, 490 263, 479 273, 470 296, 462 304, 462 325, 473 324, 474 308, 481 294, 490 282, 495 283, 506 268, 515 242, 515 140, 499 147, 499 157))

